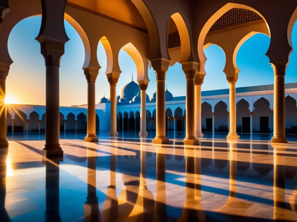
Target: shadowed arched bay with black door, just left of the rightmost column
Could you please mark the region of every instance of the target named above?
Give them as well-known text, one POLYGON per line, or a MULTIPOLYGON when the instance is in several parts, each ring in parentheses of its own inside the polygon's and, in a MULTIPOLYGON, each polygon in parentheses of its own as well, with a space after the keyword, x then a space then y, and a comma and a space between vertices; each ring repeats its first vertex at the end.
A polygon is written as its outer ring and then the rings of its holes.
POLYGON ((269 101, 263 97, 254 103, 252 126, 255 133, 270 133, 273 128, 273 113, 269 101))

